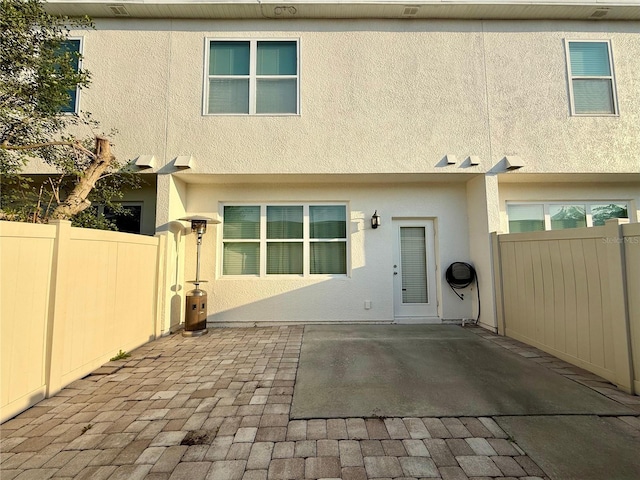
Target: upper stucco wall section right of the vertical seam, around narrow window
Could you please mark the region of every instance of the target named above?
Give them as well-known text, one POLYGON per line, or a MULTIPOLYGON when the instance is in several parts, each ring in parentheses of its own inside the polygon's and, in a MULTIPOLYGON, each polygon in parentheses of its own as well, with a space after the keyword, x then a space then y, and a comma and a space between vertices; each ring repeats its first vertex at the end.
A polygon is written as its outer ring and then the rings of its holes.
POLYGON ((640 171, 640 24, 486 22, 491 149, 522 173, 640 171), (619 116, 571 116, 566 40, 611 41, 619 116))

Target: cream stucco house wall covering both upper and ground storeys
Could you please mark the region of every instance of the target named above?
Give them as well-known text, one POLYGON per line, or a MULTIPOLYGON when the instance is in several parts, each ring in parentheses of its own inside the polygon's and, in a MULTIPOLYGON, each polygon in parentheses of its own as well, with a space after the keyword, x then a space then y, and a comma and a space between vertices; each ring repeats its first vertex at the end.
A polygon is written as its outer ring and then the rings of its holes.
MULTIPOLYGON (((189 269, 195 264, 194 242, 175 221, 185 214, 219 213, 221 201, 342 200, 360 217, 351 219, 357 229, 352 277, 342 282, 346 287, 336 288, 338 280, 212 278, 210 315, 220 321, 317 320, 320 315, 389 320, 391 280, 380 266, 388 266, 391 258, 388 233, 359 230, 376 208, 387 210, 387 219, 437 217, 443 269, 454 260, 471 260, 489 286, 488 233, 505 231, 505 201, 613 195, 633 200, 636 212, 640 204, 637 180, 545 187, 503 184, 496 177, 507 155, 524 163, 507 176, 640 171, 637 22, 97 19, 95 30, 75 33, 84 39, 84 66, 93 73, 81 108, 93 112, 105 130, 119 130, 114 146, 119 159, 156 157, 156 227, 168 236, 164 281, 170 307, 163 332, 180 323, 190 288, 184 280, 193 276, 189 269), (298 39, 300 114, 203 115, 207 38, 298 39), (567 39, 611 40, 619 116, 570 116, 567 39), (446 165, 447 154, 457 163, 446 165), (172 162, 184 155, 193 156, 193 165, 178 173, 172 162), (478 157, 478 165, 469 165, 470 155, 478 157), (275 181, 245 188, 238 180, 247 174, 372 173, 451 174, 452 179, 433 188, 428 181, 429 187, 407 188, 392 180, 319 187, 311 177, 295 186, 275 181), (460 173, 478 177, 454 178, 460 173), (199 185, 211 182, 209 175, 224 174, 235 175, 235 183, 224 186, 218 179, 215 186, 199 185), (371 256, 382 263, 365 261, 371 256), (367 298, 370 292, 382 309, 363 309, 364 300, 373 301, 367 298), (319 300, 332 295, 339 299, 333 305, 319 300), (282 305, 287 309, 279 315, 282 305), (341 305, 349 307, 338 312, 341 305)), ((215 239, 205 238, 205 262, 216 262, 221 243, 215 239)), ((215 273, 214 264, 207 269, 215 273)), ((442 284, 442 316, 472 316, 471 300, 458 303, 442 284)), ((491 302, 483 302, 485 307, 491 326, 491 302)))

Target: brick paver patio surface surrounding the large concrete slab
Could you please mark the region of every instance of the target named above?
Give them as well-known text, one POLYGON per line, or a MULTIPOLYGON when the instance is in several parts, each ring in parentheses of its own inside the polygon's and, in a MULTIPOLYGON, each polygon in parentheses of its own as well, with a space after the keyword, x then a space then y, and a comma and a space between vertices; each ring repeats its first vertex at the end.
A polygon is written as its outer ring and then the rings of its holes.
MULTIPOLYGON (((151 342, 5 422, 0 477, 546 478, 488 417, 290 420, 302 334, 301 326, 215 329, 151 342)), ((542 359, 580 375, 533 358, 542 359)), ((636 408, 638 397, 621 398, 636 408)), ((619 421, 640 430, 637 416, 619 421)))

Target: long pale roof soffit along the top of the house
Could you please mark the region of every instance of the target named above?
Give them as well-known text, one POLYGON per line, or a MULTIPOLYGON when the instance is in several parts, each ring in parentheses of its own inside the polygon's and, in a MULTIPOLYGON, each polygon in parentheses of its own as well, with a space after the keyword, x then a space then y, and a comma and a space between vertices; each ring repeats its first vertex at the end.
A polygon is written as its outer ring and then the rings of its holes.
POLYGON ((456 18, 640 20, 640 0, 48 0, 50 13, 93 18, 456 18))

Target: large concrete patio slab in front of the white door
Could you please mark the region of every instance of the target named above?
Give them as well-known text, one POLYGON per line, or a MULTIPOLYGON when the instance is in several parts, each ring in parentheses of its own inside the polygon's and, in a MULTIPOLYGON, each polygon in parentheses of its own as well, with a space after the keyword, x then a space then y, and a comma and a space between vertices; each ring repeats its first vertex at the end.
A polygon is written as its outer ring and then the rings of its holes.
POLYGON ((294 419, 632 413, 453 325, 307 326, 291 409, 294 419))

